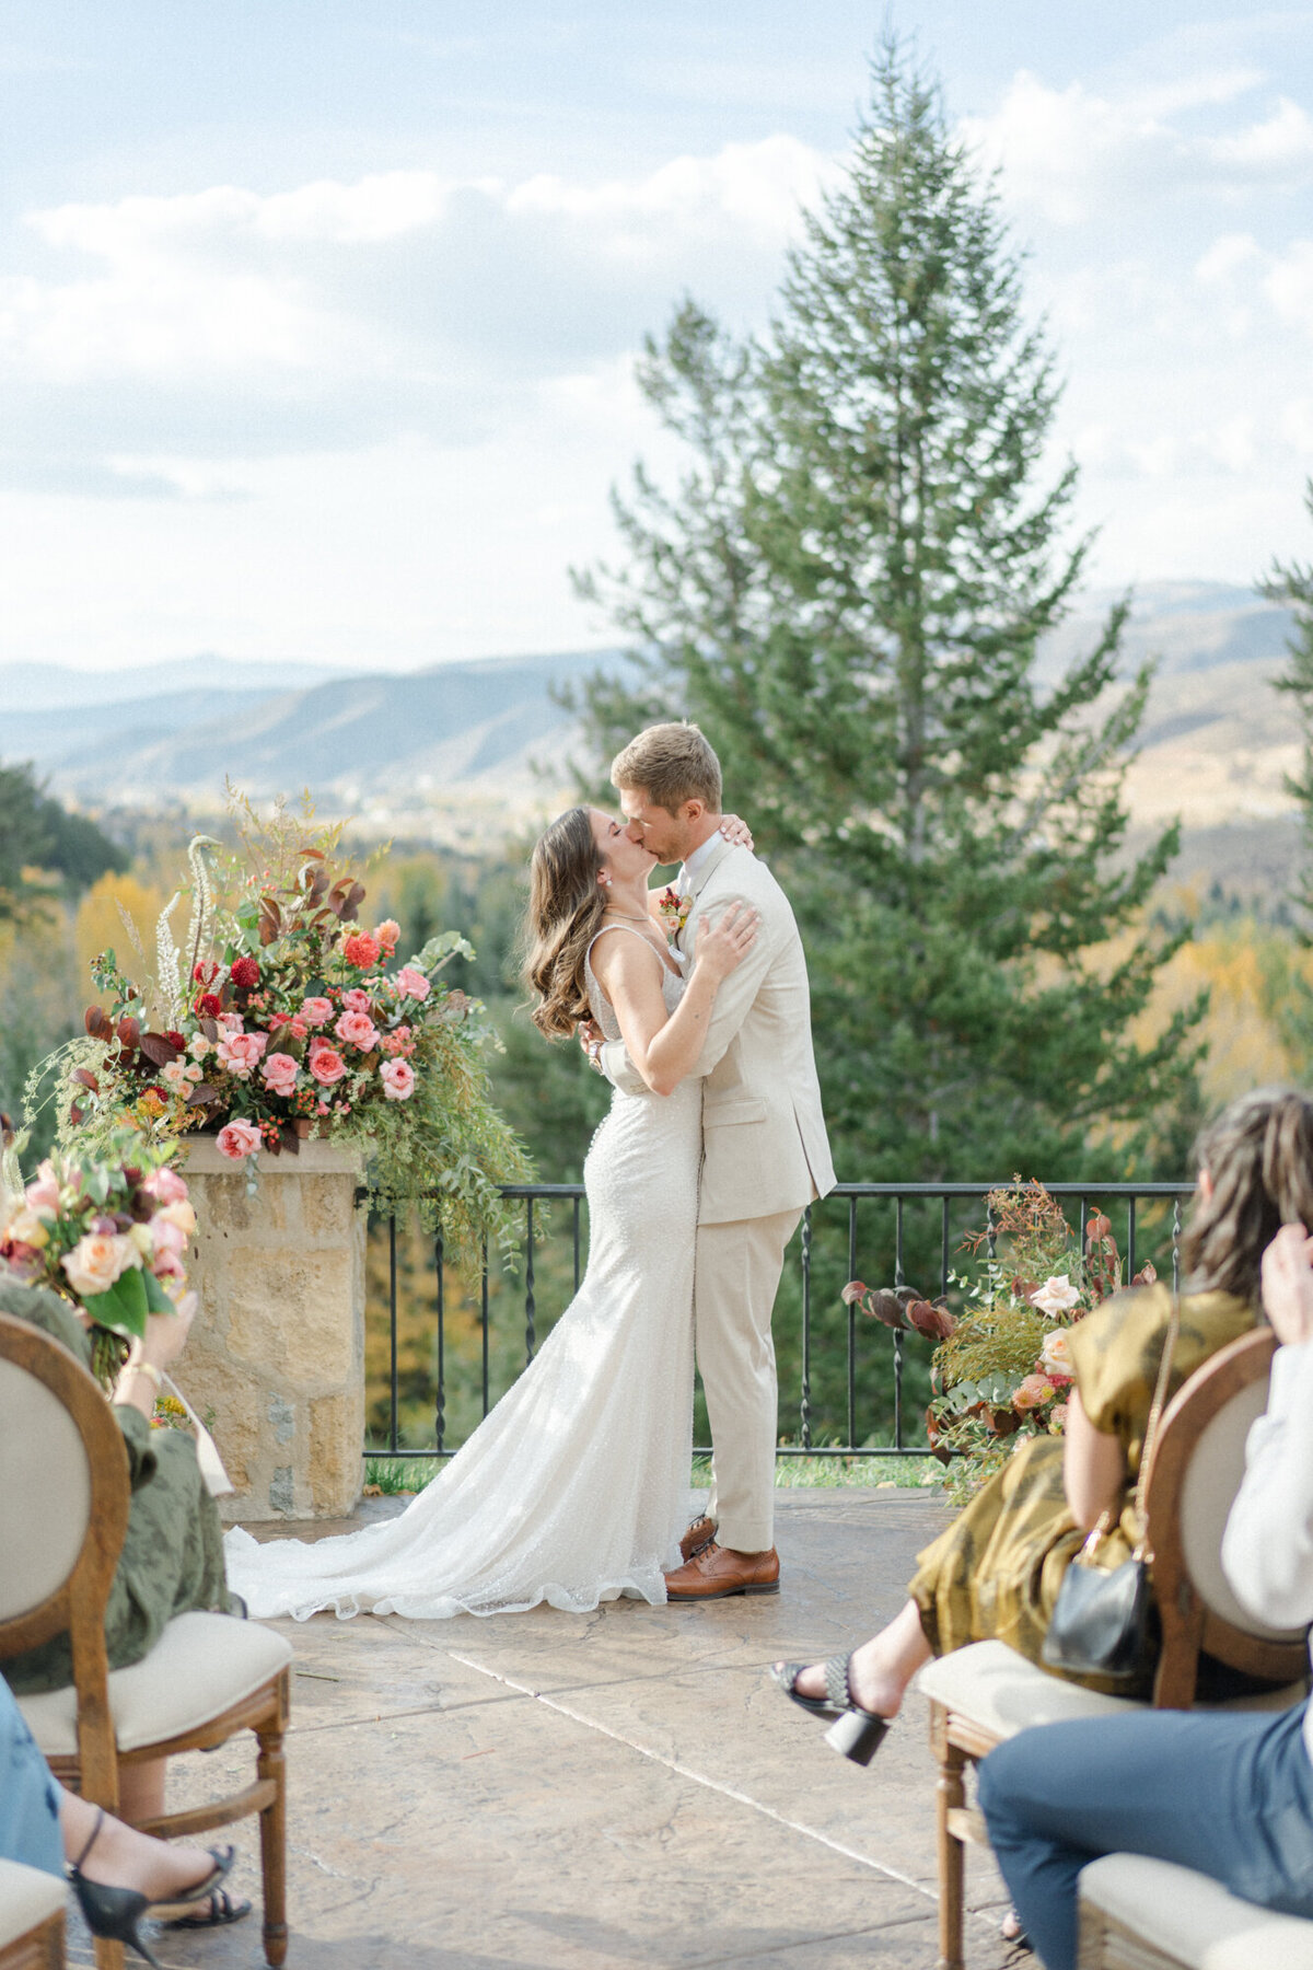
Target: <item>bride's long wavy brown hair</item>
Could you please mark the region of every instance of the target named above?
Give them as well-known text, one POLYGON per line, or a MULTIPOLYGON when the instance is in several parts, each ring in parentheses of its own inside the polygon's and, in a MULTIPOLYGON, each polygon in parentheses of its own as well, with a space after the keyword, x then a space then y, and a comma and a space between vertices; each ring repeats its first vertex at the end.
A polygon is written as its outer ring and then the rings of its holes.
POLYGON ((567 1040, 591 1015, 583 961, 606 908, 600 871, 587 808, 567 808, 533 845, 524 979, 537 993, 533 1024, 549 1040, 567 1040))

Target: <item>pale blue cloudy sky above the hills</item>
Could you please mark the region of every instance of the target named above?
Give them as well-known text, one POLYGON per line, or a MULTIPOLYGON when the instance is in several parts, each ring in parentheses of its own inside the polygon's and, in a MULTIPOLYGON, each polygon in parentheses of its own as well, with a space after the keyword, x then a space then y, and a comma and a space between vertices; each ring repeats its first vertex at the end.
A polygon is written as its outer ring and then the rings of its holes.
MULTIPOLYGON (((1030 246, 1094 579, 1309 556, 1313 8, 906 0, 1030 246)), ((587 646, 675 459, 632 355, 760 325, 884 12, 10 0, 0 662, 587 646)))

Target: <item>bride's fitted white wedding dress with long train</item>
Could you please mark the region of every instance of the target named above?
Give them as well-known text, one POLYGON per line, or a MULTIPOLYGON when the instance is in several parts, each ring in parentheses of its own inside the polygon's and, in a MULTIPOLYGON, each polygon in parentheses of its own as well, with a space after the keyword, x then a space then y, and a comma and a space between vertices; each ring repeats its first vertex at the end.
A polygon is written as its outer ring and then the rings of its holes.
MULTIPOLYGON (((663 993, 673 1011, 671 971, 663 993)), ((589 1271, 535 1359, 398 1519, 313 1544, 234 1527, 228 1586, 252 1615, 435 1621, 665 1600, 689 1515, 701 1109, 693 1078, 665 1097, 616 1089, 585 1162, 589 1271)))

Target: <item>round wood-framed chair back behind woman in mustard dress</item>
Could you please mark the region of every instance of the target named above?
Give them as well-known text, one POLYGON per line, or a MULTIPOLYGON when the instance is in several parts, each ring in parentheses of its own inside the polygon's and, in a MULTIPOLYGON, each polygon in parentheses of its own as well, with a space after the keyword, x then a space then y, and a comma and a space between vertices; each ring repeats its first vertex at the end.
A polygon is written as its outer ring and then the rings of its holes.
POLYGON ((1154 1594, 1163 1651, 1161 1710, 1189 1710, 1199 1651, 1268 1682, 1307 1674, 1305 1629, 1274 1629, 1244 1611, 1222 1572, 1222 1533, 1244 1476, 1244 1442, 1268 1403, 1272 1328, 1242 1334, 1195 1369, 1163 1412, 1146 1479, 1154 1594))

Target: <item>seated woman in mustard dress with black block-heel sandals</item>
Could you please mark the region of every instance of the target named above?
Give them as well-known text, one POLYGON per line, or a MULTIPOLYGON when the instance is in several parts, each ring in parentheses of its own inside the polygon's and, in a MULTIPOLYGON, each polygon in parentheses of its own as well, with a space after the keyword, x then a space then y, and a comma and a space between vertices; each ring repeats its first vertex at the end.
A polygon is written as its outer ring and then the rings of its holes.
MULTIPOLYGON (((1282 1223, 1313 1223, 1313 1101, 1291 1089, 1232 1101, 1201 1135, 1197 1168, 1169 1393, 1262 1320, 1262 1255, 1282 1223)), ((1120 1523, 1100 1564, 1130 1554, 1128 1509, 1169 1318, 1171 1292, 1154 1284, 1077 1322, 1065 1436, 1026 1442, 917 1556, 909 1600, 878 1635, 829 1663, 774 1665, 805 1710, 846 1714, 844 1755, 870 1763, 931 1655, 998 1639, 1039 1663, 1061 1578, 1104 1511, 1120 1523)))

